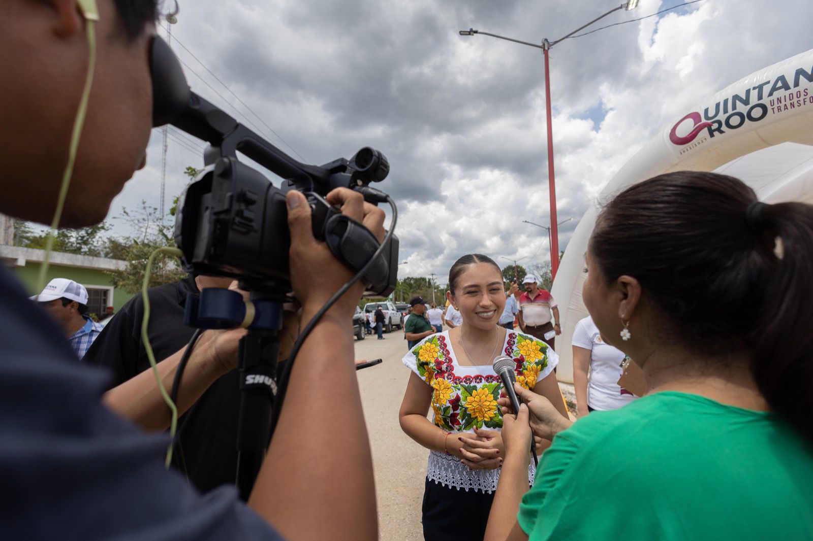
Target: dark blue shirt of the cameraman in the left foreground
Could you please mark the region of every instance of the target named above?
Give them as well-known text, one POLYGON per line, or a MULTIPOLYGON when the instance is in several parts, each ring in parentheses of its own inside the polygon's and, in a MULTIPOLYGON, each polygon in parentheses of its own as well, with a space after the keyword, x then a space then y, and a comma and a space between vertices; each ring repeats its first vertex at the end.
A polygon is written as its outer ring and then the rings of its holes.
POLYGON ((280 539, 233 487, 200 496, 169 440, 102 406, 109 374, 0 269, 0 538, 280 539))

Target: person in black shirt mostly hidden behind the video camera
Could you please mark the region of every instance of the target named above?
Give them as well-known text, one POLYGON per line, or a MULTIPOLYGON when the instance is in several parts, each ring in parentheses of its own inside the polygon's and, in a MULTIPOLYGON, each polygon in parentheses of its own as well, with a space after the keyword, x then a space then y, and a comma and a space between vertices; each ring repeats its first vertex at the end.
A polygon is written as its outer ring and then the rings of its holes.
MULTIPOLYGON (((147 335, 156 359, 164 359, 185 349, 194 329, 184 325, 186 297, 199 294, 205 288, 228 288, 232 279, 215 276, 189 275, 173 283, 150 288, 150 322, 147 335)), ((141 340, 144 302, 141 295, 120 309, 115 318, 93 342, 83 361, 89 366, 102 366, 113 374, 110 386, 121 386, 142 372, 145 383, 155 385, 145 344, 141 340)), ((169 383, 172 386, 172 382, 169 383)), ((162 422, 154 426, 149 417, 133 409, 139 407, 137 396, 116 400, 116 394, 128 386, 113 389, 105 400, 131 421, 145 430, 165 430, 162 422), (120 409, 117 405, 128 409, 120 409)), ((223 484, 233 484, 237 475, 237 418, 240 409, 240 374, 230 370, 203 392, 199 400, 178 418, 178 444, 172 453, 172 465, 185 474, 198 491, 208 492, 223 484)), ((180 387, 184 391, 185 386, 180 387)), ((157 388, 156 388, 157 391, 157 388)), ((163 402, 163 400, 161 400, 163 402)), ((159 406, 165 420, 166 406, 159 406)))

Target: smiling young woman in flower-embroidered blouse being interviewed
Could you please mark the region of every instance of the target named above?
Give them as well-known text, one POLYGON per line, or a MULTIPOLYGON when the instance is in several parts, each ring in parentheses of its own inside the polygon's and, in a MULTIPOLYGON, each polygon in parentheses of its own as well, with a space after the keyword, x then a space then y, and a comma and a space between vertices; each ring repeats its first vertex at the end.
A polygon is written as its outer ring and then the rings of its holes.
MULTIPOLYGON (((449 271, 446 296, 463 324, 429 335, 403 358, 412 373, 399 420, 407 435, 430 449, 424 538, 482 539, 504 455, 497 404, 502 383, 492 368, 494 357, 513 358, 517 381, 567 415, 553 374, 559 357, 533 336, 498 325, 506 294, 491 258, 478 253, 459 258, 449 271), (432 422, 426 417, 430 406, 432 422)), ((548 444, 538 440, 537 450, 548 444)), ((532 466, 528 483, 533 474, 532 466)))

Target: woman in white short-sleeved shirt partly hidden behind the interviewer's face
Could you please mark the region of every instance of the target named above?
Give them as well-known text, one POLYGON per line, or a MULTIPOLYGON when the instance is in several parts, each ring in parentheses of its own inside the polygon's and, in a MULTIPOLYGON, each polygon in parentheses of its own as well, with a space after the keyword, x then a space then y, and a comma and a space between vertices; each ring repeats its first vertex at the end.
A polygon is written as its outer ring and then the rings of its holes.
POLYGON ((573 386, 579 417, 594 409, 619 409, 637 398, 618 384, 626 355, 602 340, 593 318, 587 316, 576 323, 572 345, 573 386))

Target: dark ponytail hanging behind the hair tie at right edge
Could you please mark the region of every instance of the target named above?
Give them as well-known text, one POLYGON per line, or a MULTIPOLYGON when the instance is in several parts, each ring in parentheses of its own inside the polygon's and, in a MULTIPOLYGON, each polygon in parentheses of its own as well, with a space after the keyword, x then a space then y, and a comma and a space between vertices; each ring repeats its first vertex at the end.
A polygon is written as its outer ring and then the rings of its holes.
POLYGON ((777 203, 760 212, 760 255, 772 273, 755 307, 751 373, 771 409, 813 443, 813 206, 777 203))

